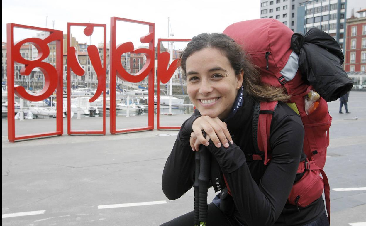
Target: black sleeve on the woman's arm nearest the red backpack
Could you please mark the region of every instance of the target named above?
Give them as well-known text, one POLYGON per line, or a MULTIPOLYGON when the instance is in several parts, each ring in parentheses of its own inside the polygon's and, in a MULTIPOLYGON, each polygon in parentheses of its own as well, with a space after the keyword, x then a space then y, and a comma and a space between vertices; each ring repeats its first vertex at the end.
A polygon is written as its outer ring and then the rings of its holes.
POLYGON ((275 115, 270 131, 272 160, 259 185, 252 179, 245 155, 237 145, 216 148, 212 141, 209 142, 209 150, 224 172, 240 218, 247 225, 273 225, 276 222, 299 165, 304 138, 301 119, 296 114, 280 119, 275 115))

